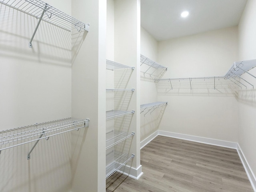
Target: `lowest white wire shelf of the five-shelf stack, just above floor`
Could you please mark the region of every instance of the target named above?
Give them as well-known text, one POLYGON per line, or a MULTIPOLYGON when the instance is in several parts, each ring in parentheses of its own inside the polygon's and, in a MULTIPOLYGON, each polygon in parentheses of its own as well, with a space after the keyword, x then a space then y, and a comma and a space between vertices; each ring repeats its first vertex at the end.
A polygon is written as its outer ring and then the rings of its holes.
POLYGON ((106 179, 124 166, 128 161, 134 158, 134 154, 128 155, 120 152, 112 151, 106 155, 106 179))

